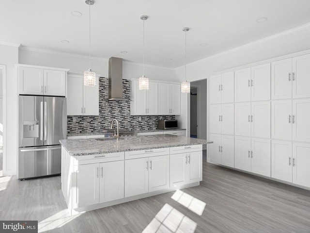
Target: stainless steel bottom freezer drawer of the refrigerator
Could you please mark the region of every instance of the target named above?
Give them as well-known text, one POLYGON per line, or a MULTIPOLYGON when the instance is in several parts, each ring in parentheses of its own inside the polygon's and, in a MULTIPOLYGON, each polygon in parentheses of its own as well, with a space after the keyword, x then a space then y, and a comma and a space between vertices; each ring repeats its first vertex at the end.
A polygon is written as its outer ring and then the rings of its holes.
POLYGON ((61 147, 19 148, 18 179, 61 173, 61 147))

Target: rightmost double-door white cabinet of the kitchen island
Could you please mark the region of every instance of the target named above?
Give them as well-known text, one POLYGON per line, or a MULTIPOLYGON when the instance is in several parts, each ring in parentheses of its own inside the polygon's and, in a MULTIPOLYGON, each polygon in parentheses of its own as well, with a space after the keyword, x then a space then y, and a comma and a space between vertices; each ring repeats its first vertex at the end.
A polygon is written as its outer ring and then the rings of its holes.
POLYGON ((202 181, 202 150, 193 148, 183 153, 174 152, 170 154, 171 188, 202 181))

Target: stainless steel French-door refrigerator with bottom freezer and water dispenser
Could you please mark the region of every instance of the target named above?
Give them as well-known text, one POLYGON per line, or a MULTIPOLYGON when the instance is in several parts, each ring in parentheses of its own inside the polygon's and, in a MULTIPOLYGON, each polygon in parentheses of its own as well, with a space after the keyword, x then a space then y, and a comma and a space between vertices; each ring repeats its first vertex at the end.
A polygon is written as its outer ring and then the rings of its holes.
POLYGON ((64 97, 19 96, 18 179, 61 173, 66 120, 64 97))

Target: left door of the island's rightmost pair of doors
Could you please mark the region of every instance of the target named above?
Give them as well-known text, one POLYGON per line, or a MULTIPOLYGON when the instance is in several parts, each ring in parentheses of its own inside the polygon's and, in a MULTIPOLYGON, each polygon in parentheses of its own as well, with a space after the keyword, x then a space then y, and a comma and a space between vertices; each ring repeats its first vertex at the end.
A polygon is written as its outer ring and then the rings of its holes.
POLYGON ((170 155, 170 187, 186 184, 187 165, 186 153, 170 155))

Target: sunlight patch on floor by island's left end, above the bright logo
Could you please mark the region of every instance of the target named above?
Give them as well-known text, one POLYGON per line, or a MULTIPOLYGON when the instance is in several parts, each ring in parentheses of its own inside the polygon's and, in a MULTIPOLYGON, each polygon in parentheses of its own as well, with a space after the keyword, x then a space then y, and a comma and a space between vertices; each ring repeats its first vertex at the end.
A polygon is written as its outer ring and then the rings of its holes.
POLYGON ((70 216, 69 211, 67 209, 64 209, 55 215, 52 215, 41 222, 38 223, 38 232, 47 232, 51 231, 55 228, 62 227, 66 223, 72 221, 76 217, 80 216, 80 214, 70 216))

